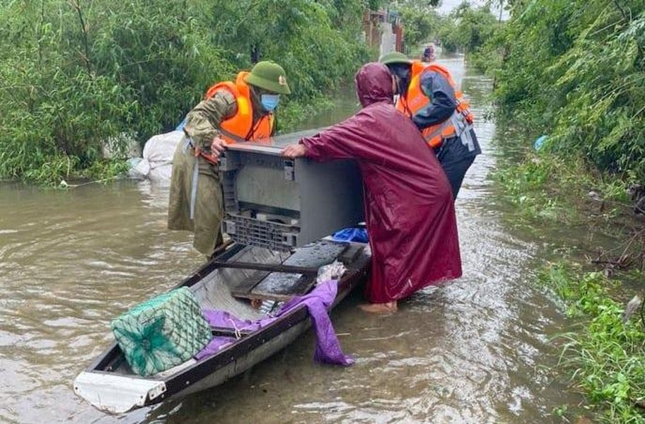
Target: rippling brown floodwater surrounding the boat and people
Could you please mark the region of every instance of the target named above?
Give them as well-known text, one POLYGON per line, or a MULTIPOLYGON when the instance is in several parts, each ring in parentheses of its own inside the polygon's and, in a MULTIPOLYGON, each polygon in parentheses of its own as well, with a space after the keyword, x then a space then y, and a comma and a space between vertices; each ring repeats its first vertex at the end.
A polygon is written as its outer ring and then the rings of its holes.
MULTIPOLYGON (((122 416, 74 395, 74 377, 108 346, 112 318, 199 266, 190 235, 165 228, 168 189, 117 182, 66 192, 0 185, 0 422, 549 423, 581 399, 552 369, 565 329, 530 285, 542 245, 505 219, 492 194, 493 141, 482 115, 491 81, 441 60, 470 96, 484 153, 456 203, 463 277, 361 312, 353 293, 332 314, 348 367, 313 363, 311 331, 221 387, 122 416)), ((351 95, 325 126, 351 113, 351 95)))

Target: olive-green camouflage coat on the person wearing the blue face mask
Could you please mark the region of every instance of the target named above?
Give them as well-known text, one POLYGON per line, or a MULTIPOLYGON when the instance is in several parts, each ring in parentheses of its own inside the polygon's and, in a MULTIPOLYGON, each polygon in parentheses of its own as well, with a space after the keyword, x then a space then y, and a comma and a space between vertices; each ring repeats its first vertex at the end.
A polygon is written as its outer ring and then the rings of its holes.
MULTIPOLYGON (((236 99, 226 90, 199 102, 188 114, 184 131, 192 143, 210 151, 211 141, 219 136, 219 124, 237 112, 236 99)), ((195 157, 186 137, 178 144, 173 157, 173 175, 170 178, 170 203, 168 205, 168 229, 194 232, 193 246, 210 256, 222 242, 221 220, 223 218, 223 195, 219 170, 201 156, 195 157), (195 161, 198 163, 197 195, 194 204, 194 219, 190 219, 190 196, 195 161)))

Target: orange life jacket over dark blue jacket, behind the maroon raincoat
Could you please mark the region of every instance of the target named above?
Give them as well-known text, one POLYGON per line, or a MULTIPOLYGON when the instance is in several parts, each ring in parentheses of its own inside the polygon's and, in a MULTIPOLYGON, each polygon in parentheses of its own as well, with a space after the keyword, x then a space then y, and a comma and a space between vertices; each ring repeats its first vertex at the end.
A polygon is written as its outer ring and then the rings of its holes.
POLYGON ((446 78, 455 90, 455 100, 457 100, 457 107, 450 118, 444 122, 439 122, 438 124, 424 128, 422 131, 427 143, 431 147, 436 148, 441 146, 443 140, 460 136, 465 129, 468 129, 472 125, 473 116, 472 112, 470 112, 470 105, 465 100, 463 93, 457 89, 455 81, 453 81, 448 69, 434 62, 426 63, 418 60, 412 61, 412 78, 405 97, 402 96, 397 100, 397 110, 400 110, 400 112, 403 112, 408 117, 412 117, 419 110, 422 110, 430 104, 430 99, 421 89, 421 76, 425 71, 434 71, 446 78), (455 125, 459 129, 456 129, 455 125))

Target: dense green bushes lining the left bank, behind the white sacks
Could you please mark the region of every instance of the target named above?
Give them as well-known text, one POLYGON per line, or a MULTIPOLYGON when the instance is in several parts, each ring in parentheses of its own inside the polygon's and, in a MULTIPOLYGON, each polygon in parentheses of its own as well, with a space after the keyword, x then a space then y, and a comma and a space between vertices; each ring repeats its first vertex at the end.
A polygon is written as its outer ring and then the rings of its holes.
POLYGON ((0 177, 50 183, 87 175, 106 141, 124 150, 129 138, 144 142, 174 128, 209 85, 257 60, 286 69, 294 95, 285 106, 320 98, 368 57, 359 37, 365 6, 2 2, 0 177))

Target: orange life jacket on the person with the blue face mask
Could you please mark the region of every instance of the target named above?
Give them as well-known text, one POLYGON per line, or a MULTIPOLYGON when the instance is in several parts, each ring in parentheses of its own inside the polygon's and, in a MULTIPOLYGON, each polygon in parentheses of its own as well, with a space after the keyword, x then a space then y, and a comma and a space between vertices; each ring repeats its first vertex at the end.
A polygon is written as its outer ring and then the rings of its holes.
POLYGON ((231 118, 221 122, 223 130, 222 139, 226 143, 237 143, 240 141, 260 141, 269 139, 273 132, 275 117, 272 112, 262 116, 255 125, 253 124, 253 105, 251 102, 251 90, 244 81, 248 72, 240 72, 236 82, 223 81, 216 83, 208 89, 204 99, 211 98, 219 90, 228 90, 236 99, 238 112, 231 118), (229 133, 231 136, 227 135, 229 133))

